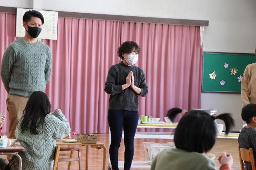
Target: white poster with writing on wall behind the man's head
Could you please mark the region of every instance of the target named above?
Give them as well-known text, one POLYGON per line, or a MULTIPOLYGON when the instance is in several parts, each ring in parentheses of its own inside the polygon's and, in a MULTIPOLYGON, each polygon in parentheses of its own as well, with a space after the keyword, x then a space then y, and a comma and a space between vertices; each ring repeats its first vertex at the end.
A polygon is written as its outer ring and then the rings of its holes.
MULTIPOLYGON (((17 8, 16 17, 16 37, 24 37, 25 29, 23 27, 23 15, 31 9, 17 8)), ((44 16, 45 23, 42 25, 42 31, 39 34, 39 39, 57 40, 58 12, 37 10, 44 16)))

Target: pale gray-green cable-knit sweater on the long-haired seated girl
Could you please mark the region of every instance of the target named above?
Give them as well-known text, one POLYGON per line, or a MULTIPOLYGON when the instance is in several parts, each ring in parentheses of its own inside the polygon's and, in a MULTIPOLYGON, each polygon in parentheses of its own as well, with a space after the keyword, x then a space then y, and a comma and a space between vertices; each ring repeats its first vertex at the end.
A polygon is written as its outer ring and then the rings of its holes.
POLYGON ((38 127, 38 134, 31 134, 29 130, 22 133, 19 120, 15 136, 20 144, 27 150, 26 153, 19 153, 22 157, 22 166, 27 170, 50 170, 53 166, 56 139, 63 138, 70 133, 70 125, 61 110, 56 110, 53 115, 45 117, 43 127, 38 127))

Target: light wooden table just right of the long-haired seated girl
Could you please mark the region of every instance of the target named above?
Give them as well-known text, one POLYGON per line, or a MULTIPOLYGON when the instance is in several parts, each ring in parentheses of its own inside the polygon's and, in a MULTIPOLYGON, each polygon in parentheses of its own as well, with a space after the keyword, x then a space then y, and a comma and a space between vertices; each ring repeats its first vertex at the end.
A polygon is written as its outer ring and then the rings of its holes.
POLYGON ((102 165, 102 170, 105 170, 106 168, 106 147, 104 143, 97 142, 96 144, 83 144, 80 142, 74 142, 74 143, 66 143, 62 141, 57 141, 56 145, 82 145, 86 146, 86 170, 88 170, 88 155, 89 155, 89 145, 91 148, 96 148, 97 150, 100 150, 103 148, 103 165, 102 165))

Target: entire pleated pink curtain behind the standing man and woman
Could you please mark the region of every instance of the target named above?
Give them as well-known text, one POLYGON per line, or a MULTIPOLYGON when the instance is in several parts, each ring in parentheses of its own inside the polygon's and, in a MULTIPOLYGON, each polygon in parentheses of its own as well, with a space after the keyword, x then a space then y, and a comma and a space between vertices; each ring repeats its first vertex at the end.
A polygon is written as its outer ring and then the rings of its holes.
MULTIPOLYGON (((16 39, 14 14, 0 13, 0 61, 16 39), (8 20, 7 20, 8 18, 8 20)), ((172 107, 200 108, 202 48, 199 27, 59 18, 58 40, 43 40, 52 50, 52 76, 46 93, 52 110, 60 108, 72 131, 108 133, 104 82, 118 63, 118 46, 134 40, 141 47, 137 63, 149 87, 140 98, 140 115, 163 117, 172 107)), ((0 111, 7 115, 1 81, 0 111)), ((6 131, 8 122, 4 125, 6 131)))

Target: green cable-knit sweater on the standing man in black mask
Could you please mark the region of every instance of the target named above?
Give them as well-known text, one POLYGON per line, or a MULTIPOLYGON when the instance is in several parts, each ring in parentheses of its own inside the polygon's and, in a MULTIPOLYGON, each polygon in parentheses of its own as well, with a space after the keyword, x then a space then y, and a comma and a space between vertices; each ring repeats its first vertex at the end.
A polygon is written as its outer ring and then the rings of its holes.
POLYGON ((28 43, 19 38, 6 49, 1 77, 9 94, 29 98, 33 91, 45 91, 51 75, 50 47, 37 40, 28 43))

